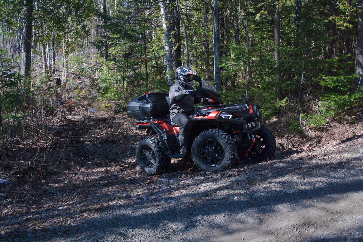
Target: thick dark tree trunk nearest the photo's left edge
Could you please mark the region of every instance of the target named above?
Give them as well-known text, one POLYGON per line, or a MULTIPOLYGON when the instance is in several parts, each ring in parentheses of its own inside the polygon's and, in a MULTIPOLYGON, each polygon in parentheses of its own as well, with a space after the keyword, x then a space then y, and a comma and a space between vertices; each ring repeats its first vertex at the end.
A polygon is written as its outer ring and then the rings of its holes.
POLYGON ((21 74, 24 75, 24 79, 29 79, 32 64, 33 0, 25 0, 24 5, 23 34, 21 36, 21 74))

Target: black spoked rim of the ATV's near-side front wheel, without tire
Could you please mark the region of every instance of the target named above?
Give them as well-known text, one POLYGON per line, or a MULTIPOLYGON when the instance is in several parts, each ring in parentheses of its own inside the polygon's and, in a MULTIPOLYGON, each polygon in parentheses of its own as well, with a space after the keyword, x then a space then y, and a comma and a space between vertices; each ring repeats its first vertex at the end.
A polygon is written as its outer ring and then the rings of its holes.
POLYGON ((223 146, 213 139, 204 141, 200 147, 199 156, 201 161, 208 167, 216 167, 224 160, 223 146))

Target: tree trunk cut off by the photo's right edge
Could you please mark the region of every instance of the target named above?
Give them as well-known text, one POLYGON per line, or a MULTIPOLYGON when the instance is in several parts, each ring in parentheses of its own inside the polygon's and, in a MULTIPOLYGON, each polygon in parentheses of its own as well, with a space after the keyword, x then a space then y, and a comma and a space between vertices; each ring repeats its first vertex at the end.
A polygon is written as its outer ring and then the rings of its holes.
MULTIPOLYGON (((363 0, 359 0, 358 4, 362 6, 363 0)), ((357 29, 357 46, 355 53, 355 74, 359 77, 354 78, 355 87, 362 86, 362 74, 363 74, 363 9, 360 7, 358 13, 358 29, 357 29)))

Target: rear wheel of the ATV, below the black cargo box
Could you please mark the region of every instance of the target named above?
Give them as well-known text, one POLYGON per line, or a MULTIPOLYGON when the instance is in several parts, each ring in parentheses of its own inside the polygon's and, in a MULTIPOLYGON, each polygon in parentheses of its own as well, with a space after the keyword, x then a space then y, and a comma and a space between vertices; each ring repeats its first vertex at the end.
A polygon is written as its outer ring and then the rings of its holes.
POLYGON ((144 172, 155 174, 168 169, 171 158, 165 154, 159 138, 147 137, 136 148, 136 161, 144 172))

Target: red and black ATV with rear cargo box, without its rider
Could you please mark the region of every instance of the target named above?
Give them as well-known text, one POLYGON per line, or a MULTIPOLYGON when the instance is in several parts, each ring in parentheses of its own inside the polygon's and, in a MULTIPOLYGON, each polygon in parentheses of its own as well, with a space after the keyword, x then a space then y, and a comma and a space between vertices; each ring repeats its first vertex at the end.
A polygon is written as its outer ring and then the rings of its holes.
POLYGON ((136 161, 148 174, 169 168, 171 158, 193 158, 203 171, 219 171, 233 165, 236 155, 252 162, 270 159, 276 151, 273 134, 261 126, 261 111, 248 98, 223 104, 215 86, 201 80, 190 95, 203 98, 184 128, 186 154, 180 153, 179 127, 169 117, 169 94, 145 93, 127 104, 127 112, 138 119, 136 130, 146 130, 136 148, 136 161))

